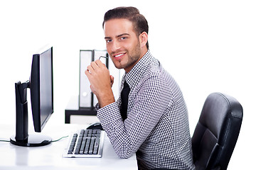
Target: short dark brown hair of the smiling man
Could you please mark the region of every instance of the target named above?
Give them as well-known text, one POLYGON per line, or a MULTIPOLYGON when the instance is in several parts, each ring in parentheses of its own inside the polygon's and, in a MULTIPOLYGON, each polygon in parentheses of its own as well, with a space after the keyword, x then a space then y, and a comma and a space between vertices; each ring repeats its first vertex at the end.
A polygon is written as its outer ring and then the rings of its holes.
MULTIPOLYGON (((105 13, 104 21, 102 23, 102 28, 106 21, 111 19, 124 18, 132 22, 134 26, 134 31, 139 36, 141 33, 149 33, 149 25, 146 21, 146 18, 139 13, 139 10, 135 7, 117 7, 110 9, 105 13)), ((149 49, 149 42, 146 42, 146 47, 149 49)))

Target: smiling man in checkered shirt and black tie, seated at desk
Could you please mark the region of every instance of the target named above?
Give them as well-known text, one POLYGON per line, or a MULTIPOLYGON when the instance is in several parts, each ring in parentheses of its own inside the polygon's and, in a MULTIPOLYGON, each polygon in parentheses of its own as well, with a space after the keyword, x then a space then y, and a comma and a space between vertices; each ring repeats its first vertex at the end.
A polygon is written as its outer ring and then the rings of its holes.
POLYGON ((186 103, 176 81, 151 56, 146 19, 137 8, 114 8, 105 13, 103 29, 114 66, 125 71, 127 109, 123 97, 114 101, 114 78, 100 60, 85 74, 115 152, 121 158, 136 153, 139 169, 194 169, 186 103))

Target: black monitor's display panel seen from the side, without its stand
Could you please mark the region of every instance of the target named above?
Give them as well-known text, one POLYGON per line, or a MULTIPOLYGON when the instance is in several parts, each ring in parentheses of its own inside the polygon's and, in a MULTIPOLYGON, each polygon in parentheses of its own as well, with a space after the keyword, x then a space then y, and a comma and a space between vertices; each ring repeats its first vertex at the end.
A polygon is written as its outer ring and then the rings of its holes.
POLYGON ((41 132, 53 113, 53 47, 33 55, 30 89, 34 128, 41 132))

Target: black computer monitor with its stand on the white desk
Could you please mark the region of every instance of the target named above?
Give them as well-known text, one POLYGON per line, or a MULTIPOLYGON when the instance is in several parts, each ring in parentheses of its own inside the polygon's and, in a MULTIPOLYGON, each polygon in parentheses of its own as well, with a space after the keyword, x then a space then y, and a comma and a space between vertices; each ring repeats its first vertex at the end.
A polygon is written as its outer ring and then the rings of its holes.
POLYGON ((31 108, 35 132, 41 132, 53 113, 53 47, 33 55, 31 77, 21 84, 16 82, 16 135, 11 143, 18 146, 37 147, 48 145, 50 137, 28 135, 27 89, 31 89, 31 108))

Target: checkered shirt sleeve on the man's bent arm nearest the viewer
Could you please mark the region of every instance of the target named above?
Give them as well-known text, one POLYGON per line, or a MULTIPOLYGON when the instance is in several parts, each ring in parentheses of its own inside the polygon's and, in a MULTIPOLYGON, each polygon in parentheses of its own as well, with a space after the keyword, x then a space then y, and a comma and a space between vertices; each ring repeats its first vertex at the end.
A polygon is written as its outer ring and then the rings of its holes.
POLYGON ((119 157, 131 157, 145 142, 169 103, 167 89, 166 83, 157 76, 139 83, 129 95, 129 110, 124 121, 117 102, 98 110, 97 118, 119 157))

